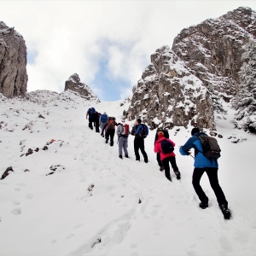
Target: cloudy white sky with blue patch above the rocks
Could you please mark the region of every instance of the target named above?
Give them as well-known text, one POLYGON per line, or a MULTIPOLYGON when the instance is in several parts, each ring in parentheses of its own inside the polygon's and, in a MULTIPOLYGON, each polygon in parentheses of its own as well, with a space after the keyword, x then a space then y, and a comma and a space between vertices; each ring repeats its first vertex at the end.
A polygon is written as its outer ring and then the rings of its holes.
POLYGON ((64 90, 78 73, 103 101, 131 95, 155 49, 183 28, 256 1, 0 1, 26 40, 27 90, 64 90))

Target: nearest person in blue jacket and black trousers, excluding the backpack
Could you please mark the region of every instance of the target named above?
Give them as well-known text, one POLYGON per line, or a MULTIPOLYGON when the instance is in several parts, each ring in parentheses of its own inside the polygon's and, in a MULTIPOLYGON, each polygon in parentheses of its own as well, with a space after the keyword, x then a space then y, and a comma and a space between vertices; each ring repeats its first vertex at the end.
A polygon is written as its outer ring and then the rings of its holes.
MULTIPOLYGON (((203 146, 201 143, 201 136, 207 137, 206 133, 200 132, 198 128, 193 128, 191 131, 189 140, 179 148, 179 152, 182 155, 191 154, 190 148, 195 148, 195 169, 193 172, 192 183, 195 189, 195 193, 198 195, 201 203, 199 207, 206 209, 208 207, 208 197, 201 188, 200 180, 204 172, 207 172, 207 176, 211 183, 212 189, 217 197, 218 206, 224 214, 224 218, 230 218, 230 210, 228 208, 228 201, 224 196, 224 192, 218 184, 218 160, 210 159, 203 154, 203 146)), ((219 149, 220 151, 220 149, 219 149)), ((211 151, 210 151, 211 153, 211 151)))

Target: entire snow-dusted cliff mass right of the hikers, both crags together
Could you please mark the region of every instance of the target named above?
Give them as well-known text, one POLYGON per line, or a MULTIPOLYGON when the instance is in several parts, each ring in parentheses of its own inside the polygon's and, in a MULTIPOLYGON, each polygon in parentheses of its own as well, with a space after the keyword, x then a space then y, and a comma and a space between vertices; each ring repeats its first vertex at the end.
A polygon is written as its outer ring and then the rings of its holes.
MULTIPOLYGON (((256 13, 239 8, 183 29, 172 44, 151 55, 133 88, 132 117, 151 128, 197 125, 215 129, 214 115, 241 90, 244 47, 256 39, 256 13)), ((220 113, 220 114, 218 114, 220 113)))

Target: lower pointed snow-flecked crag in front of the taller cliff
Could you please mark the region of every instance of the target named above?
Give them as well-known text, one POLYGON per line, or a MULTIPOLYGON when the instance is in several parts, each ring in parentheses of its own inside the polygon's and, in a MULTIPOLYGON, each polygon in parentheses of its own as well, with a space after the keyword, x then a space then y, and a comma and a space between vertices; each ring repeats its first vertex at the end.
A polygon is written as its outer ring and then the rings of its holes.
POLYGON ((133 88, 131 118, 157 126, 196 125, 214 130, 212 99, 200 79, 168 46, 151 55, 151 64, 133 88))

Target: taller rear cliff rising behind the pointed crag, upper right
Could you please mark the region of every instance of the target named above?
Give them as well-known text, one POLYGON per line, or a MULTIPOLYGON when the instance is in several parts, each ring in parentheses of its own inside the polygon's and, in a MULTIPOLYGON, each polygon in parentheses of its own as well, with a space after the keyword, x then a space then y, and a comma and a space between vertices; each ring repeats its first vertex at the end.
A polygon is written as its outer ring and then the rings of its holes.
POLYGON ((250 38, 256 38, 256 13, 242 7, 183 29, 174 38, 172 50, 211 92, 217 111, 223 110, 219 99, 229 102, 240 90, 241 55, 250 38))

